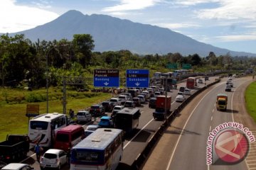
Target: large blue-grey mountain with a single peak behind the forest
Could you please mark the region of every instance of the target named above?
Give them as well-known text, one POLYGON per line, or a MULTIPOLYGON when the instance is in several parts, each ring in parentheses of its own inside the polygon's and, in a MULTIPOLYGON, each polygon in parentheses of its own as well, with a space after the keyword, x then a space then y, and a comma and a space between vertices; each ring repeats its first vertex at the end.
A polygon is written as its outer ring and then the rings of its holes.
POLYGON ((43 26, 9 35, 21 33, 33 42, 38 38, 39 40, 63 38, 72 40, 74 34, 90 34, 95 40, 95 51, 99 52, 129 50, 141 55, 180 52, 181 55, 197 53, 201 57, 208 56, 209 52, 214 52, 217 56, 230 52, 232 56, 256 56, 252 53, 234 52, 198 42, 168 28, 134 23, 106 15, 88 16, 75 10, 68 11, 43 26))

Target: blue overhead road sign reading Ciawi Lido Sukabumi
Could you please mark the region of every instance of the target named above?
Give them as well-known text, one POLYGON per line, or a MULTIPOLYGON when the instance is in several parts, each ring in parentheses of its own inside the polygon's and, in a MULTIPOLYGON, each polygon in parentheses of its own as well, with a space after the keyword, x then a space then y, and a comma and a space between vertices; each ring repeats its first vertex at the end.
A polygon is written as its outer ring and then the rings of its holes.
POLYGON ((127 69, 126 72, 127 87, 149 87, 148 69, 127 69))

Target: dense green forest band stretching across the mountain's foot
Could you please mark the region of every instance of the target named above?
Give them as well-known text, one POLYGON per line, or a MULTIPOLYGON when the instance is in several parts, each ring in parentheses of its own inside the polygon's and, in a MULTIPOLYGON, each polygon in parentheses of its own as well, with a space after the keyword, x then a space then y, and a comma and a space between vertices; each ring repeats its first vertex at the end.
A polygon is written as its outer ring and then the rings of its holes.
POLYGON ((73 40, 38 40, 31 42, 24 35, 8 34, 0 37, 1 86, 59 86, 62 77, 92 77, 94 69, 119 69, 124 77, 126 69, 149 69, 153 72, 171 72, 168 63, 191 64, 194 72, 208 70, 245 70, 256 64, 253 57, 231 57, 229 54, 208 57, 197 54, 182 56, 180 53, 166 55, 132 54, 129 50, 94 52, 94 40, 88 34, 73 35, 73 40))

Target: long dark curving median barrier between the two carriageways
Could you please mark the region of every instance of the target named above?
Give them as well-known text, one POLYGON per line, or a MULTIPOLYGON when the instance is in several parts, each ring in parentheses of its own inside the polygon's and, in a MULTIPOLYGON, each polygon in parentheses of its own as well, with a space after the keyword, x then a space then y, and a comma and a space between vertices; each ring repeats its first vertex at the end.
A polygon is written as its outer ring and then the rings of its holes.
POLYGON ((192 101, 193 98, 195 98, 198 94, 200 94, 202 91, 207 89, 209 86, 213 86, 213 84, 217 84, 220 82, 220 79, 215 79, 215 81, 211 84, 208 84, 207 86, 204 86, 202 89, 199 89, 196 91, 194 94, 189 96, 186 101, 183 101, 180 106, 178 106, 172 113, 169 115, 167 118, 168 120, 164 120, 164 123, 156 130, 154 135, 151 137, 149 142, 147 143, 146 147, 143 149, 142 153, 140 153, 137 158, 134 160, 131 169, 141 169, 142 165, 144 164, 144 161, 146 160, 146 157, 149 156, 149 153, 151 152, 151 149, 154 148, 154 145, 156 142, 159 140, 161 135, 163 134, 164 130, 169 126, 169 123, 176 118, 176 115, 180 113, 183 108, 190 102, 192 101))

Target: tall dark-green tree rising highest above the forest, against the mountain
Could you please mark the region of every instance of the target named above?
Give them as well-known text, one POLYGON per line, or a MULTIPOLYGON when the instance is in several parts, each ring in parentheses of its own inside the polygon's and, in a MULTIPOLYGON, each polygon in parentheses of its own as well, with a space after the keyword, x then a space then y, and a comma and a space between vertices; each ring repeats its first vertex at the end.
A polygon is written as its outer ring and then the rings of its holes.
POLYGON ((78 57, 80 64, 85 68, 90 64, 92 58, 92 50, 95 45, 93 44, 92 36, 89 34, 75 34, 73 35, 73 47, 75 55, 78 57))

